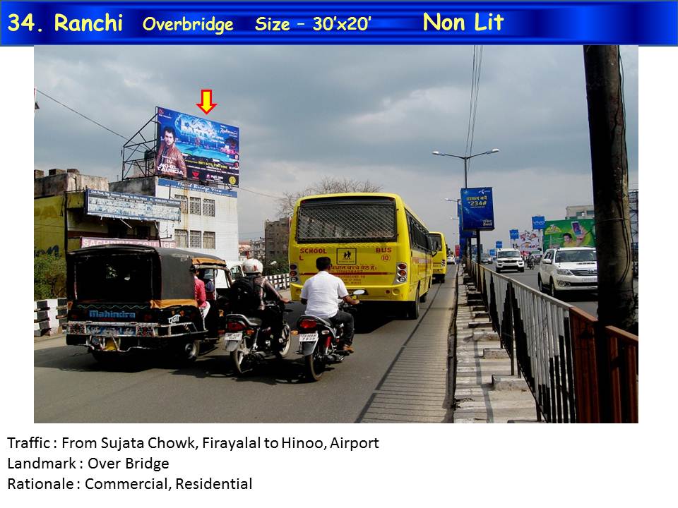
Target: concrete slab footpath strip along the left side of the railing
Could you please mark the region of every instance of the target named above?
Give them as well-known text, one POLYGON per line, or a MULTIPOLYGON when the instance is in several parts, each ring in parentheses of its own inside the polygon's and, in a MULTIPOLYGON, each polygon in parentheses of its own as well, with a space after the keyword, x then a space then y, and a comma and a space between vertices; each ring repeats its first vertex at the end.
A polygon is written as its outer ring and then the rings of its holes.
MULTIPOLYGON (((535 423, 535 399, 522 377, 511 375, 511 360, 492 331, 477 291, 458 273, 456 407, 454 423, 535 423)), ((516 366, 517 372, 517 366, 516 366)))

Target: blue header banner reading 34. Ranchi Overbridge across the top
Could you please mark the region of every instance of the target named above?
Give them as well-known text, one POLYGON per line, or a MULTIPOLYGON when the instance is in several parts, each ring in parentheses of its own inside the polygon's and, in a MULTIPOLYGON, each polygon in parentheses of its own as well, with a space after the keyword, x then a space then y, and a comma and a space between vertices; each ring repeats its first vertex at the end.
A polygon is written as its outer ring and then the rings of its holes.
POLYGON ((678 44, 677 1, 17 2, 0 44, 678 44))

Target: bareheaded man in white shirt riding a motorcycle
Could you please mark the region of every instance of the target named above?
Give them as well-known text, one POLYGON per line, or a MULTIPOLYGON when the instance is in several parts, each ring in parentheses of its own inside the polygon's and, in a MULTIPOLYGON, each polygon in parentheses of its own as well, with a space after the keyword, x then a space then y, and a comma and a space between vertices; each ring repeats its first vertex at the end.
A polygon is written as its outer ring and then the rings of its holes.
POLYGON ((306 305, 306 314, 328 320, 332 325, 344 325, 344 334, 340 349, 353 353, 353 315, 339 310, 338 300, 351 305, 360 303, 348 294, 346 286, 339 277, 330 274, 332 260, 327 257, 316 259, 318 273, 304 282, 302 303, 306 305))

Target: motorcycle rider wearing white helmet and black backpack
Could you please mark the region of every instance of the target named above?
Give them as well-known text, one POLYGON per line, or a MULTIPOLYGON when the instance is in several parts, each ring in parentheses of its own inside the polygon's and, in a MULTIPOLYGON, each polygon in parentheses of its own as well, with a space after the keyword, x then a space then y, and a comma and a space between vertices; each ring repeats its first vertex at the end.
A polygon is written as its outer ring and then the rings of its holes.
MULTIPOLYGON (((263 321, 262 328, 270 327, 270 331, 276 339, 282 337, 285 322, 283 308, 285 303, 290 303, 290 300, 278 293, 273 284, 270 284, 268 279, 262 275, 263 265, 261 261, 256 259, 246 260, 242 264, 242 271, 254 287, 254 302, 256 304, 256 308, 242 310, 243 313, 261 318, 263 321), (266 307, 266 301, 277 301, 279 305, 275 308, 266 307)), ((273 344, 281 346, 278 341, 273 341, 273 344)))

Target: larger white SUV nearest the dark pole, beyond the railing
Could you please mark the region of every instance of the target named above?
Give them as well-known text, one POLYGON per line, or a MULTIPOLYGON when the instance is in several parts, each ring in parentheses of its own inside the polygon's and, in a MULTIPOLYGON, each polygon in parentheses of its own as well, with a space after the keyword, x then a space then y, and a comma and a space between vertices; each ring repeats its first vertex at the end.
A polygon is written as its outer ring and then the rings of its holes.
POLYGON ((549 249, 539 264, 537 284, 557 298, 561 291, 596 291, 598 264, 593 247, 549 249))

